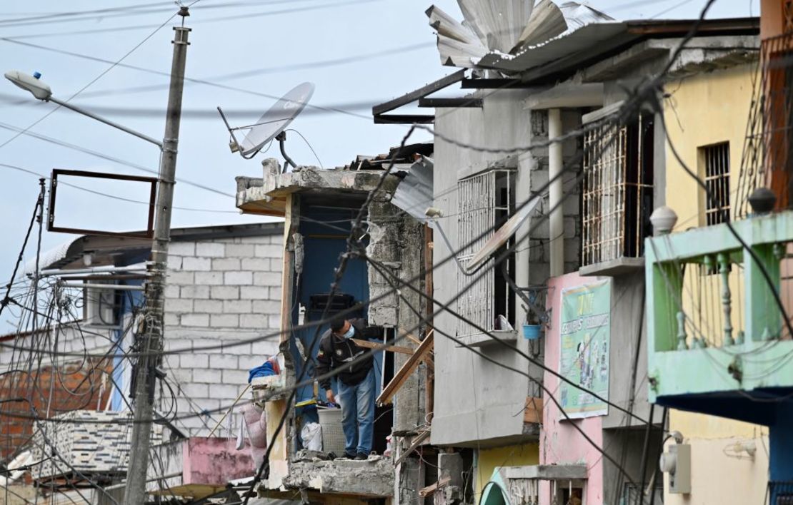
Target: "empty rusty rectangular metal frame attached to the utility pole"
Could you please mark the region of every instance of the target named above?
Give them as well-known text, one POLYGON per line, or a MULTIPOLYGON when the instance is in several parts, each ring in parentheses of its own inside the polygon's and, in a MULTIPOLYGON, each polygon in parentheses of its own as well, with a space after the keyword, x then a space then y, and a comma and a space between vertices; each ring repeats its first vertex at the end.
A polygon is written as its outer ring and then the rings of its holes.
POLYGON ((158 179, 156 177, 128 176, 117 173, 89 172, 87 170, 52 169, 52 176, 50 177, 50 198, 49 198, 49 206, 47 210, 47 231, 53 231, 63 234, 152 238, 154 237, 154 215, 155 215, 155 199, 157 197, 157 182, 158 179), (146 231, 114 232, 107 230, 90 230, 84 228, 69 228, 66 226, 56 226, 55 215, 56 215, 56 194, 58 190, 58 176, 90 177, 94 179, 109 179, 109 180, 130 180, 132 182, 147 182, 151 184, 151 191, 149 192, 149 212, 147 218, 146 231))

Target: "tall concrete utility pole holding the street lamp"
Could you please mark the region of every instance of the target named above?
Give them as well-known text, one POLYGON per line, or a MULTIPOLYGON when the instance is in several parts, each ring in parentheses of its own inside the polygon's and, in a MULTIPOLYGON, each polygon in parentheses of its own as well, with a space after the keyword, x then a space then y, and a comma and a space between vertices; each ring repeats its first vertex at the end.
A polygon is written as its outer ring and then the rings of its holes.
MULTIPOLYGON (((190 28, 184 26, 185 17, 190 16, 187 8, 182 7, 179 10, 179 15, 182 16, 182 26, 174 27, 174 58, 170 66, 168 111, 165 119, 163 154, 159 164, 154 241, 151 245, 151 262, 148 267, 150 275, 146 284, 144 332, 135 345, 136 351, 142 353, 157 353, 163 350, 164 290, 168 242, 170 241, 170 214, 174 201, 179 121, 182 116, 182 89, 185 82, 185 61, 189 45, 187 36, 190 33, 190 28)), ((125 505, 146 503, 146 472, 151 420, 154 417, 155 368, 159 365, 159 361, 159 355, 144 354, 140 356, 137 363, 132 445, 129 450, 127 485, 124 490, 125 505)))

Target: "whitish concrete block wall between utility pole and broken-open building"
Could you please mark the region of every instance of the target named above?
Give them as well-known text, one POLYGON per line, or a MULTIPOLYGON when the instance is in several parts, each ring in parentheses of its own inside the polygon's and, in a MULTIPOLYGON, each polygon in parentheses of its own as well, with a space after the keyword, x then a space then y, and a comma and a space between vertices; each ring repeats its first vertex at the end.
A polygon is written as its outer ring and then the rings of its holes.
MULTIPOLYGON (((178 416, 197 414, 178 421, 186 435, 209 435, 222 412, 201 412, 228 408, 247 386, 248 370, 278 352, 282 241, 276 228, 255 237, 170 244, 165 345, 195 350, 166 355, 163 367, 174 385, 178 416), (206 346, 217 348, 201 349, 206 346)), ((160 402, 167 412, 170 394, 160 402)), ((238 423, 234 416, 232 426, 238 423)), ((228 435, 226 426, 218 433, 228 435)))

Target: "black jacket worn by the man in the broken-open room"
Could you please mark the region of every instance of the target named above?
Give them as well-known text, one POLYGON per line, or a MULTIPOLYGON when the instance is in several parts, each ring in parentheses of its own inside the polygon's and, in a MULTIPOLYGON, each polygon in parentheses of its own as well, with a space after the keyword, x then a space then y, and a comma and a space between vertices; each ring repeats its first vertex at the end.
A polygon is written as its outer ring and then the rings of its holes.
MULTIPOLYGON (((370 336, 376 336, 377 328, 367 328, 366 321, 362 319, 351 319, 349 321, 355 328, 353 338, 368 340, 370 336)), ((369 355, 358 363, 347 363, 359 358, 367 351, 370 350, 366 349, 366 347, 358 347, 351 340, 335 336, 328 329, 323 333, 320 340, 320 351, 316 356, 316 374, 321 377, 324 374, 328 374, 331 370, 339 370, 339 374, 336 377, 341 382, 346 385, 356 385, 366 378, 366 374, 374 366, 374 358, 369 355)), ((325 390, 331 389, 331 379, 320 379, 320 387, 325 390)))

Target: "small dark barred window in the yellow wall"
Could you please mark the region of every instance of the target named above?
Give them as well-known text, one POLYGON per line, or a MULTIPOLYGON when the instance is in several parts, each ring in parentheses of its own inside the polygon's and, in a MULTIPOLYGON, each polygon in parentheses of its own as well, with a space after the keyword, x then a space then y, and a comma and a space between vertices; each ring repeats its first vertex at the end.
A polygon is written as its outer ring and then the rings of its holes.
POLYGON ((705 226, 730 220, 730 142, 699 148, 705 187, 701 192, 705 226))

